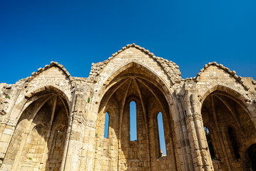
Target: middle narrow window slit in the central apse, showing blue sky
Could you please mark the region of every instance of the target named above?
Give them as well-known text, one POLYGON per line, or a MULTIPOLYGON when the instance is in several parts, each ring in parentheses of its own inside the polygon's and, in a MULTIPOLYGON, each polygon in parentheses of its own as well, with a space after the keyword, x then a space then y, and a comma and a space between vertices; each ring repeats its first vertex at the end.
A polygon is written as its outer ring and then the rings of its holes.
POLYGON ((136 103, 130 102, 130 140, 137 140, 136 103))

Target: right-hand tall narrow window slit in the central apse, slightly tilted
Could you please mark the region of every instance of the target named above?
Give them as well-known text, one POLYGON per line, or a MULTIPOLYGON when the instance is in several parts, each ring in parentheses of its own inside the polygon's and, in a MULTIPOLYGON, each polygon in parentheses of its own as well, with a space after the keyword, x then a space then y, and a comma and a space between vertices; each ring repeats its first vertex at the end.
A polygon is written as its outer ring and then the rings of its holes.
POLYGON ((160 142, 160 155, 161 157, 166 155, 166 147, 165 147, 165 132, 163 129, 163 115, 162 113, 158 113, 158 135, 160 142))

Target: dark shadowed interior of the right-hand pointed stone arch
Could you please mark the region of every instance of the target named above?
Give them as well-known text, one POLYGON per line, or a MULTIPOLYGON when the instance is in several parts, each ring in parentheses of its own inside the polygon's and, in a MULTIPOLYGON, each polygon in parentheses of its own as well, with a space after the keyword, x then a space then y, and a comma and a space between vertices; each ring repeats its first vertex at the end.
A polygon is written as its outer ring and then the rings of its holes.
POLYGON ((204 126, 211 128, 215 170, 248 169, 244 149, 254 141, 256 129, 242 101, 215 90, 205 97, 201 113, 204 126))

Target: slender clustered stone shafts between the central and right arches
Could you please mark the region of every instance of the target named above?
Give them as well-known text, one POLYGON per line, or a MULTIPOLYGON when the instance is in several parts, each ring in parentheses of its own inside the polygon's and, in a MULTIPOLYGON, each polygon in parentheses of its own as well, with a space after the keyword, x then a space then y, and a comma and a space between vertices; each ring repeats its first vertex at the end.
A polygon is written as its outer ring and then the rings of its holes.
POLYGON ((213 170, 213 162, 203 128, 203 118, 195 90, 185 90, 185 122, 195 170, 213 170))

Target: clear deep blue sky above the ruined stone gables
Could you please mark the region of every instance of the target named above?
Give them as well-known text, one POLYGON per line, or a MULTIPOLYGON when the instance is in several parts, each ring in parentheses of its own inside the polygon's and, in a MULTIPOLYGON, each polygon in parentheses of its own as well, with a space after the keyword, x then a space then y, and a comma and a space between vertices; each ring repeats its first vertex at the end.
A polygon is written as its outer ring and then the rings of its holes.
POLYGON ((256 73, 256 1, 1 1, 0 82, 16 83, 58 61, 71 76, 128 43, 194 77, 217 61, 256 73))

